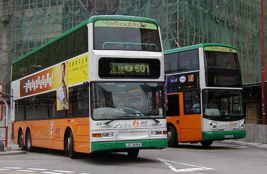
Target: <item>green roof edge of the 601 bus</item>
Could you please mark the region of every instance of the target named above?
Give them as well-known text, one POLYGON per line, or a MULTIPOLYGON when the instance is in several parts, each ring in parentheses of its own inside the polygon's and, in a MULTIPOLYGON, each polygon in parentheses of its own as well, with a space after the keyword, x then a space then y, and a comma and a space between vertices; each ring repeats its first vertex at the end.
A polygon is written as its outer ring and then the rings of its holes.
POLYGON ((38 52, 39 50, 41 50, 42 48, 45 48, 46 46, 56 42, 57 40, 63 38, 64 36, 78 30, 79 28, 90 24, 90 23, 94 23, 95 21, 99 21, 99 20, 126 20, 126 21, 137 21, 137 22, 146 22, 146 23, 153 23, 155 24, 157 27, 159 27, 159 22, 153 19, 149 19, 149 18, 143 18, 143 17, 134 17, 134 16, 121 16, 121 15, 100 15, 100 16, 93 16, 91 18, 89 18, 88 20, 78 24, 77 26, 73 27, 72 29, 69 29, 68 31, 60 34, 59 36, 55 37, 54 39, 51 39, 50 41, 46 42, 45 44, 41 45, 40 47, 35 48, 33 51, 27 53, 26 55, 20 57, 19 59, 15 60, 14 62, 12 62, 12 64, 15 64, 19 61, 21 61, 22 59, 32 55, 33 53, 38 52))

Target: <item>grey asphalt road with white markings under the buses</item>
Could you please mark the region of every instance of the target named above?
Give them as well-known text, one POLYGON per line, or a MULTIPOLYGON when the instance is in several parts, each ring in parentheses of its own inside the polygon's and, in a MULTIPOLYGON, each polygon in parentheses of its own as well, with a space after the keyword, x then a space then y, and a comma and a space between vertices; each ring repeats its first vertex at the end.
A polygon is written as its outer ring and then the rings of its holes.
POLYGON ((267 151, 253 147, 213 143, 183 144, 177 148, 141 150, 135 159, 127 153, 81 154, 78 159, 62 151, 0 156, 0 173, 267 173, 267 151))

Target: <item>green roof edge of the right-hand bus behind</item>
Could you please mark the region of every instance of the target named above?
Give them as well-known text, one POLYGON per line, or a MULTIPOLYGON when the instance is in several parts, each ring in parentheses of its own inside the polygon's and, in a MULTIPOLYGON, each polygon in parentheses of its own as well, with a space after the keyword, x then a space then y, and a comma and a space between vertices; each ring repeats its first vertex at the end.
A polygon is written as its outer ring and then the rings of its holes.
POLYGON ((228 47, 228 48, 232 48, 232 49, 237 50, 237 48, 235 46, 232 46, 232 45, 219 44, 219 43, 203 43, 203 44, 192 45, 192 46, 188 46, 188 47, 182 47, 182 48, 175 48, 175 49, 171 49, 171 50, 166 50, 166 51, 164 51, 164 54, 171 54, 171 53, 187 51, 187 50, 193 50, 193 49, 203 48, 203 47, 210 47, 210 46, 228 47))

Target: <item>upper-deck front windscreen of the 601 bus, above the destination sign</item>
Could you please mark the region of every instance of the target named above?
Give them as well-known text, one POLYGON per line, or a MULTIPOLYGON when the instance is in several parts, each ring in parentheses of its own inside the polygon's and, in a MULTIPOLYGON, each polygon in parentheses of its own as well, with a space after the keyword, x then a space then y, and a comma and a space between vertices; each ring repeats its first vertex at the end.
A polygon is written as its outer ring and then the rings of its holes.
POLYGON ((96 21, 94 49, 161 52, 159 31, 145 22, 96 21))

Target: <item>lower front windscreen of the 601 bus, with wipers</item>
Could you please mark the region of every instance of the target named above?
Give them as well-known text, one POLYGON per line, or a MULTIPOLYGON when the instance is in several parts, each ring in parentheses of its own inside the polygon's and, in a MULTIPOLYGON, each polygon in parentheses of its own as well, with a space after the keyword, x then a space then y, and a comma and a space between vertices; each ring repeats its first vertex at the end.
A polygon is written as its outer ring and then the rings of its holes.
POLYGON ((163 83, 91 83, 94 120, 163 118, 163 103, 163 83))

